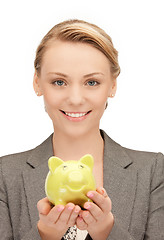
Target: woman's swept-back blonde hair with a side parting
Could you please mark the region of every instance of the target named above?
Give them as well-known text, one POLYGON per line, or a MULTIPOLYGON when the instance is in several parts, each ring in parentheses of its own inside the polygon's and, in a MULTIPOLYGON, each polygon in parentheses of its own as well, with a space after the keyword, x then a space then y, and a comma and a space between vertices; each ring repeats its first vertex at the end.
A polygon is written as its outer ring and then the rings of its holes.
POLYGON ((114 48, 111 37, 98 26, 83 20, 66 20, 55 25, 42 39, 36 50, 34 67, 40 74, 43 55, 55 40, 82 42, 99 49, 108 58, 114 78, 120 74, 118 52, 114 48))

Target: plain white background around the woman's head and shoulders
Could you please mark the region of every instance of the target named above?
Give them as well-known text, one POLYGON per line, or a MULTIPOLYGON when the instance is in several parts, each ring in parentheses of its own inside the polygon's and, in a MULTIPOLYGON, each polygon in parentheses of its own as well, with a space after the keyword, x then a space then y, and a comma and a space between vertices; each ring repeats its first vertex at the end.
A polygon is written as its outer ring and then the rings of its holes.
POLYGON ((163 0, 10 0, 0 3, 0 156, 35 147, 53 131, 36 97, 35 50, 62 20, 102 27, 119 51, 118 91, 101 128, 121 145, 164 153, 163 0))

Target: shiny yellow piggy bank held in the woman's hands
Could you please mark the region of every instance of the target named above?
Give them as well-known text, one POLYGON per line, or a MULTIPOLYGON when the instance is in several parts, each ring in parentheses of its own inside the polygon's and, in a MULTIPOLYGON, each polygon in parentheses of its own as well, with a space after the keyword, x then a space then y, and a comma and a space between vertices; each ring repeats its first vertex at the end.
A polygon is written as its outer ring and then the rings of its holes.
POLYGON ((93 164, 93 157, 89 154, 78 161, 49 158, 49 172, 45 181, 45 192, 49 201, 54 205, 72 202, 81 207, 85 202, 91 202, 86 194, 90 190, 96 190, 93 164))

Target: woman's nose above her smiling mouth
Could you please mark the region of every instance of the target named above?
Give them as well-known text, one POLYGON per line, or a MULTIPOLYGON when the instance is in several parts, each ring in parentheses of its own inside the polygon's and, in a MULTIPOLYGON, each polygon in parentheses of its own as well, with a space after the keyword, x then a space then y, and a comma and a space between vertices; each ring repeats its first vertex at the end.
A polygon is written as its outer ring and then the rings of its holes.
POLYGON ((84 91, 80 86, 72 86, 69 91, 68 103, 72 105, 82 105, 85 101, 84 91))

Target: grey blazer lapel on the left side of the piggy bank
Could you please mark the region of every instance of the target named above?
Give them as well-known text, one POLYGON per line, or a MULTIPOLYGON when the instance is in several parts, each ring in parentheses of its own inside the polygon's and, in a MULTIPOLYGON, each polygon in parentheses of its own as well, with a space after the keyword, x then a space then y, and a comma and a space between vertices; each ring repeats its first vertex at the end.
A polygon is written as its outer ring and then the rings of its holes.
POLYGON ((29 169, 23 172, 24 187, 29 208, 31 223, 35 224, 38 219, 37 202, 46 196, 44 186, 48 173, 48 159, 53 155, 52 135, 41 145, 36 147, 27 164, 29 169))

